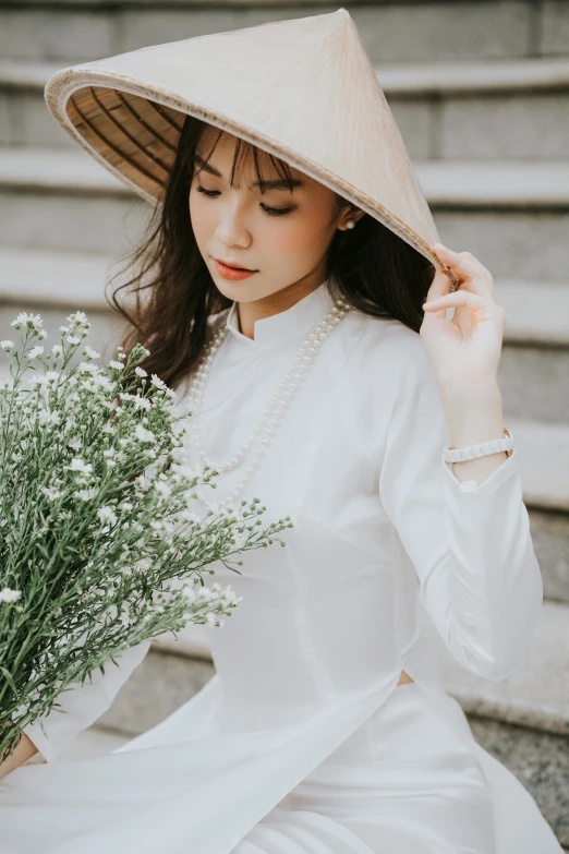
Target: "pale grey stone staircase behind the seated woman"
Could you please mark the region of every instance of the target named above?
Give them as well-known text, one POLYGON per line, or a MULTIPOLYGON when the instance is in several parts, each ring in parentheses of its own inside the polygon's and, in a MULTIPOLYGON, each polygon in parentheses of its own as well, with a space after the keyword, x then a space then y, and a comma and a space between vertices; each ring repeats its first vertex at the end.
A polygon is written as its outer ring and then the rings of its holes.
MULTIPOLYGON (((479 741, 521 779, 569 849, 569 0, 344 7, 440 239, 493 272, 508 315, 499 381, 546 602, 522 671, 489 683, 450 667, 446 681, 479 741)), ((39 312, 51 333, 81 309, 93 324, 92 345, 110 354, 120 323, 104 284, 149 214, 53 122, 43 97, 49 74, 145 45, 336 8, 318 0, 2 2, 0 338, 10 337, 17 311, 39 312)), ((160 639, 112 708, 70 745, 70 757, 112 749, 148 729, 213 673, 193 627, 178 641, 160 639)))

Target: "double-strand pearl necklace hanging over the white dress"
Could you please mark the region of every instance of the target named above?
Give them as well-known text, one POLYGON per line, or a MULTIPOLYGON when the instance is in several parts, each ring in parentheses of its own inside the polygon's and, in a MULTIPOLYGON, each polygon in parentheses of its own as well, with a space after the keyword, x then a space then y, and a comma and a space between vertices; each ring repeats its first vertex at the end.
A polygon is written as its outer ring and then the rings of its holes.
POLYGON ((206 502, 197 493, 197 491, 195 491, 197 500, 208 509, 229 507, 229 505, 231 505, 242 495, 245 486, 257 469, 263 454, 266 452, 268 445, 277 432, 278 426, 282 422, 284 413, 292 401, 294 393, 300 387, 302 378, 305 376, 316 353, 318 352, 318 349, 322 347, 328 335, 330 335, 340 321, 348 314, 350 308, 351 306, 343 299, 336 300, 328 314, 318 323, 315 329, 302 344, 289 370, 284 373, 282 380, 273 393, 270 400, 263 410, 257 426, 255 428, 250 438, 245 442, 241 450, 239 450, 234 457, 232 457, 227 462, 221 462, 219 465, 209 460, 204 452, 199 430, 199 418, 205 388, 209 380, 211 365, 217 351, 229 333, 228 327, 223 326, 222 328, 218 329, 209 344, 206 345, 195 376, 190 385, 187 396, 187 409, 192 410, 189 432, 199 456, 201 462, 203 466, 209 466, 219 473, 232 471, 243 461, 245 455, 253 448, 255 443, 255 453, 252 462, 247 467, 245 474, 238 484, 237 489, 233 490, 231 495, 229 495, 223 502, 218 505, 213 505, 210 502, 206 502))

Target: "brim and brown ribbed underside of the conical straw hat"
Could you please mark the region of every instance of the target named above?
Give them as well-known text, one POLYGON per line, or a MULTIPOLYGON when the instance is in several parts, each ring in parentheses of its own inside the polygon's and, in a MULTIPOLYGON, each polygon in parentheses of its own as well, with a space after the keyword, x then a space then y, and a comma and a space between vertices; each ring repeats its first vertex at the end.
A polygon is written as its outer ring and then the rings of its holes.
POLYGON ((409 228, 392 211, 384 207, 361 188, 350 184, 331 170, 287 148, 258 130, 238 123, 228 116, 192 104, 177 93, 148 87, 106 72, 63 69, 46 85, 47 107, 62 129, 119 181, 153 204, 161 194, 172 167, 186 116, 193 116, 279 157, 289 166, 319 181, 398 234, 436 268, 458 279, 444 267, 428 243, 409 228), (112 85, 109 85, 112 83, 112 85))

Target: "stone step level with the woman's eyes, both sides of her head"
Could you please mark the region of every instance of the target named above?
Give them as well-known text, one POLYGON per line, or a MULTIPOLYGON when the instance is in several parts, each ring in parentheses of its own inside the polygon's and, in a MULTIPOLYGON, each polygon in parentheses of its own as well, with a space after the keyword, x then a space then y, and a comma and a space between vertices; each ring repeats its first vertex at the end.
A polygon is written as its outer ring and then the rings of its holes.
MULTIPOLYGON (((566 281, 569 161, 415 161, 444 243, 497 277, 566 281)), ((86 152, 0 146, 2 244, 117 255, 150 206, 86 152)))

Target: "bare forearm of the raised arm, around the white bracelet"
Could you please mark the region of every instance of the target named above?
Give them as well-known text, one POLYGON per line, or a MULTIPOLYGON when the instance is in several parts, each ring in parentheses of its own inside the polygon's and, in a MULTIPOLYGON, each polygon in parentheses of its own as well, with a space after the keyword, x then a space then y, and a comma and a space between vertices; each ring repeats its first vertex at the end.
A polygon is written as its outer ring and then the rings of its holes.
MULTIPOLYGON (((477 445, 504 435, 504 409, 501 394, 496 382, 475 385, 463 383, 460 388, 439 384, 445 411, 449 444, 455 448, 477 445)), ((452 473, 463 482, 483 483, 507 459, 501 450, 477 459, 452 464, 452 473)))

